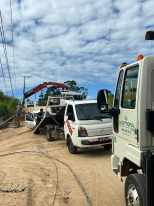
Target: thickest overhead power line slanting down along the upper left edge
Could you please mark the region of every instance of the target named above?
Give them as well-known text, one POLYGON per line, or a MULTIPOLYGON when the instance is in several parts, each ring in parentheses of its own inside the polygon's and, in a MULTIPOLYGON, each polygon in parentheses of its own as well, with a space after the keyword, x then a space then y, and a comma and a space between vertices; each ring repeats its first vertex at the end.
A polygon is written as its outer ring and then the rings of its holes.
POLYGON ((5 44, 5 36, 4 36, 4 29, 3 29, 3 21, 2 21, 1 10, 0 10, 0 18, 1 18, 1 25, 2 25, 2 27, 0 26, 1 38, 2 38, 2 43, 3 43, 3 48, 4 48, 4 54, 5 54, 5 59, 6 59, 7 69, 8 69, 8 74, 9 74, 9 78, 10 78, 10 84, 11 84, 11 89, 12 89, 12 96, 14 96, 14 94, 13 94, 13 88, 12 88, 12 82, 11 82, 11 76, 10 76, 10 69, 9 69, 8 57, 7 57, 6 44, 5 44), (1 29, 1 28, 2 28, 2 29, 1 29))

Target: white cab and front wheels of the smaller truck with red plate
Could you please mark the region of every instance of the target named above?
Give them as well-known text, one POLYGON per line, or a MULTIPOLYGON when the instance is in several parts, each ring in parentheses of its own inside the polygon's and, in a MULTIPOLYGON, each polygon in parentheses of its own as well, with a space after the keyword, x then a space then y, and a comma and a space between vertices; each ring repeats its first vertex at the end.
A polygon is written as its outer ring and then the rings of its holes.
POLYGON ((70 153, 77 148, 102 145, 112 147, 112 122, 107 114, 101 114, 96 100, 66 100, 64 115, 65 139, 70 153))

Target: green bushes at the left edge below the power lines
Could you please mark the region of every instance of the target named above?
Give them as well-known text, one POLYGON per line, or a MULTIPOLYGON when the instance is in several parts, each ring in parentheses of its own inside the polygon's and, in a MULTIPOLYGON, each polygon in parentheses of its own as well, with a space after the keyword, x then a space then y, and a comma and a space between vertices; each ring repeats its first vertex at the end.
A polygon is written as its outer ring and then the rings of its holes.
POLYGON ((16 106, 19 104, 19 99, 9 97, 0 90, 0 118, 11 117, 16 113, 16 106))

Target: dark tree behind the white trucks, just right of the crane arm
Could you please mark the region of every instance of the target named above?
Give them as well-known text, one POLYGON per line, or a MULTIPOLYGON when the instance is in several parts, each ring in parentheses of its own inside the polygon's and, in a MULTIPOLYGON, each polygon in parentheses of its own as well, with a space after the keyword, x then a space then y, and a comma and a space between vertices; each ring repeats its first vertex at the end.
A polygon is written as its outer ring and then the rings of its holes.
POLYGON ((85 96, 85 99, 87 98, 88 89, 86 89, 84 87, 78 87, 76 81, 68 80, 68 81, 64 82, 64 84, 68 87, 68 90, 81 92, 85 96))

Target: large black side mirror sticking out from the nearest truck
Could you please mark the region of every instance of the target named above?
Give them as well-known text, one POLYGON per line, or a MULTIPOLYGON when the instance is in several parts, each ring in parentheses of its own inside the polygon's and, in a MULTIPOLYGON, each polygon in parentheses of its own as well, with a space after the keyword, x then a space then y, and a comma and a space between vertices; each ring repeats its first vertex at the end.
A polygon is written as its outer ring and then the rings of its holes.
POLYGON ((97 105, 100 110, 108 110, 108 90, 102 89, 97 94, 97 105))

